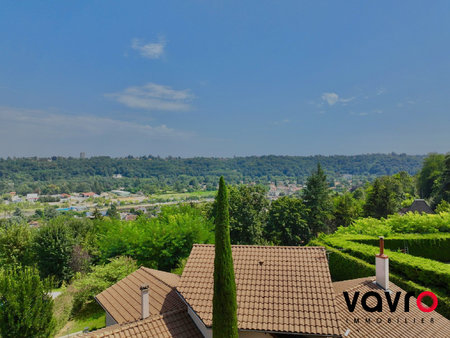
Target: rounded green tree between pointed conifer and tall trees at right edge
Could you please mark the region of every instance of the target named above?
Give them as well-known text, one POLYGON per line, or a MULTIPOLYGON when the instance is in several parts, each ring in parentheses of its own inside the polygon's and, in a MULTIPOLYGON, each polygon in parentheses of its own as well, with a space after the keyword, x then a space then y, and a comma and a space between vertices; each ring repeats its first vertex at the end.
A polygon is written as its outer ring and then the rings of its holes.
POLYGON ((364 213, 367 217, 381 218, 396 213, 402 200, 401 185, 393 177, 375 179, 367 189, 364 213))

